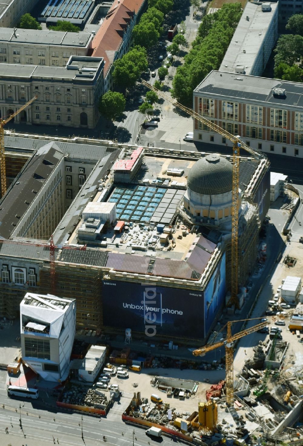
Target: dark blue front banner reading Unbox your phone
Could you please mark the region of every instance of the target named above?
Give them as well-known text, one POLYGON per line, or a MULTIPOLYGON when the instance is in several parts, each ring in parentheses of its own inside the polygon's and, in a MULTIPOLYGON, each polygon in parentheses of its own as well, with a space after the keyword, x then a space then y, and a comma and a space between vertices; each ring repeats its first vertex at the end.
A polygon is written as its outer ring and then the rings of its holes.
POLYGON ((102 281, 103 325, 146 336, 204 337, 203 293, 122 281, 102 281))

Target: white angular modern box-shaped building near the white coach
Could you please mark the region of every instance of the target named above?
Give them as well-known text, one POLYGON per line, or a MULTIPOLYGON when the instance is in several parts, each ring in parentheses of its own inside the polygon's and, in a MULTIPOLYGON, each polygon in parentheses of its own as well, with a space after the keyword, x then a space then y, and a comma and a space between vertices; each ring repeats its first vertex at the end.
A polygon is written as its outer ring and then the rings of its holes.
POLYGON ((20 303, 22 359, 41 378, 67 378, 76 330, 76 301, 26 293, 20 303))

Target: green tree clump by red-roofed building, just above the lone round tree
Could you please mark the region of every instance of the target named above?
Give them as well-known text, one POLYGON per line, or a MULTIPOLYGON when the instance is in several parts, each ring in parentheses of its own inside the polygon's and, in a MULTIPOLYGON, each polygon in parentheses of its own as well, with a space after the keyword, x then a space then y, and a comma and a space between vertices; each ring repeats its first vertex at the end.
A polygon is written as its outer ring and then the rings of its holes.
POLYGON ((123 88, 133 87, 148 67, 147 53, 142 46, 134 46, 121 59, 114 62, 114 82, 123 88))

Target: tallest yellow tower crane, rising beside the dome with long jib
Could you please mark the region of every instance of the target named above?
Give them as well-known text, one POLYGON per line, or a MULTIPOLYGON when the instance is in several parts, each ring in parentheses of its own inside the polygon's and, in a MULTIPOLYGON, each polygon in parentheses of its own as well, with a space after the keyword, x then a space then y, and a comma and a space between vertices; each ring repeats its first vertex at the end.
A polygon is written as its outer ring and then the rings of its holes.
POLYGON ((155 91, 157 95, 161 96, 163 99, 172 103, 175 107, 180 108, 185 111, 189 116, 192 116, 193 119, 202 122, 207 125, 207 127, 214 132, 219 133, 224 136, 228 140, 233 143, 233 186, 232 186, 232 229, 231 229, 231 298, 229 300, 229 305, 235 305, 238 308, 238 192, 239 192, 239 165, 240 165, 240 148, 245 149, 250 155, 252 155, 256 159, 265 158, 265 155, 262 152, 259 152, 256 149, 252 149, 250 146, 243 143, 240 139, 240 136, 234 136, 231 133, 227 132, 223 128, 219 127, 217 124, 206 119, 204 116, 199 115, 196 111, 191 108, 185 107, 184 105, 176 102, 170 96, 165 95, 162 91, 158 90, 158 88, 153 85, 141 81, 145 87, 149 88, 152 91, 155 91))

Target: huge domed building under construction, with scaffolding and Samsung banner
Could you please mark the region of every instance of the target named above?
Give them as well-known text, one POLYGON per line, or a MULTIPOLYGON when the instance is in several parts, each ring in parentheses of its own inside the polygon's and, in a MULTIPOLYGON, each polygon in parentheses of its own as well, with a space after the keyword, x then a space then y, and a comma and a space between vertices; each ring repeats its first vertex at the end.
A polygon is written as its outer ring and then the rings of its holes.
MULTIPOLYGON (((0 202, 2 316, 17 317, 28 291, 53 292, 76 299, 78 327, 207 338, 229 289, 229 156, 48 137, 5 145, 32 156, 0 202)), ((242 157, 239 185, 245 286, 270 203, 268 161, 242 157)))

